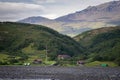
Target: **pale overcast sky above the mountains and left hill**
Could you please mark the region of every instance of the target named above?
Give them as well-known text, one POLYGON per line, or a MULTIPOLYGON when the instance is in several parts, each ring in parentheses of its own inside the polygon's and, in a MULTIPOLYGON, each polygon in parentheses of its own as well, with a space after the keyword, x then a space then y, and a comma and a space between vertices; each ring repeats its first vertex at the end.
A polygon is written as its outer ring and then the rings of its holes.
POLYGON ((50 19, 113 0, 0 0, 0 21, 16 21, 30 16, 50 19))

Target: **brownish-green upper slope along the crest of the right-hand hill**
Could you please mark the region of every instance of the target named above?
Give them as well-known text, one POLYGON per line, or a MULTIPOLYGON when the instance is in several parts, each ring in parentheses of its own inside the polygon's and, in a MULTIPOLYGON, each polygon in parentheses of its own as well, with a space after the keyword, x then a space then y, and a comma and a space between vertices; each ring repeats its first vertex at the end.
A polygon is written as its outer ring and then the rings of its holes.
POLYGON ((88 47, 92 44, 93 38, 95 38, 96 36, 103 34, 103 33, 110 32, 110 31, 114 31, 114 30, 120 30, 120 27, 119 26, 103 27, 99 29, 86 31, 86 32, 83 32, 82 34, 75 36, 74 39, 78 41, 82 46, 88 47))

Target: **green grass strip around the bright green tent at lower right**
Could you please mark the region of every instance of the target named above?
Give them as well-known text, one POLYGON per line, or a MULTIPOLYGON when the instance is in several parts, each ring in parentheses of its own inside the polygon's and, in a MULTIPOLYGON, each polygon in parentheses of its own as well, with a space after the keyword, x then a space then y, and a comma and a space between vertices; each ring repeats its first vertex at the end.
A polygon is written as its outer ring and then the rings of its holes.
POLYGON ((94 61, 94 62, 86 63, 85 66, 94 67, 94 66, 100 66, 101 64, 108 64, 109 67, 117 67, 118 66, 114 62, 110 62, 110 61, 103 61, 103 62, 94 61))

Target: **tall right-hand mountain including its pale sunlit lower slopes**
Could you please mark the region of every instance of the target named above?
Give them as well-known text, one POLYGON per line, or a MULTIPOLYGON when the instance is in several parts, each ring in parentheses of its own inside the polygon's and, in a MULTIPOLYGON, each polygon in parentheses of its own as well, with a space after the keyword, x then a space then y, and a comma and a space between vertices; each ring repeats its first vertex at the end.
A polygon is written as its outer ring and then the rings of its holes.
MULTIPOLYGON (((82 11, 77 11, 55 19, 65 22, 65 27, 77 29, 96 29, 120 25, 120 1, 112 1, 98 6, 89 6, 82 11)), ((86 29, 86 30, 88 30, 86 29)), ((80 33, 80 32, 79 32, 80 33)), ((78 34, 78 32, 76 32, 78 34)))

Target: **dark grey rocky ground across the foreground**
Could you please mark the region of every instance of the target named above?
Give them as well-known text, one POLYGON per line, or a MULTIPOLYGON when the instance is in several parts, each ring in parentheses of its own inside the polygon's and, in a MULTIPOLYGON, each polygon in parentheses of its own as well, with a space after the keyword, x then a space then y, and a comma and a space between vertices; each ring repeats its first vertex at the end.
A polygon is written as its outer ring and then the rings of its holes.
POLYGON ((120 67, 0 66, 0 80, 120 80, 120 67))

